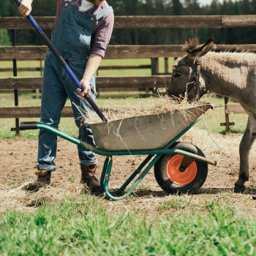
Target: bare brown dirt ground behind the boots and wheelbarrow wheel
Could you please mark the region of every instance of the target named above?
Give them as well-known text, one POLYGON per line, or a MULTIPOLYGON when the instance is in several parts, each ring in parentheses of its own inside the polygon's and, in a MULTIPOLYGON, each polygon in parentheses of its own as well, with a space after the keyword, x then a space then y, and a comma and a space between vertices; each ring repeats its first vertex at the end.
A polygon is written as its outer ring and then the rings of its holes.
MULTIPOLYGON (((208 166, 208 177, 206 183, 193 197, 201 198, 217 196, 219 192, 230 192, 240 208, 248 208, 256 213, 256 201, 252 195, 256 194, 256 151, 252 147, 249 160, 250 179, 246 182, 246 192, 234 194, 233 187, 238 178, 239 153, 238 145, 242 135, 209 135, 207 131, 192 129, 187 132, 182 140, 194 143, 201 148, 206 157, 217 160, 217 166, 208 166), (246 201, 246 203, 244 203, 246 201)), ((118 188, 143 161, 145 156, 126 156, 113 158, 113 171, 110 177, 110 188, 118 188)), ((97 176, 100 176, 105 157, 98 156, 99 167, 97 176)), ((79 184, 80 167, 75 144, 67 140, 59 139, 56 157, 57 171, 53 173, 52 184, 54 187, 61 187, 61 184, 75 181, 79 184)), ((7 195, 8 192, 20 184, 33 181, 36 177, 34 171, 37 168, 37 140, 1 140, 0 141, 0 192, 7 195)), ((154 178, 154 171, 151 170, 143 179, 135 195, 140 202, 148 202, 148 198, 170 197, 163 192, 154 178)), ((7 199, 0 198, 0 209, 7 208, 7 199), (2 207, 1 207, 2 206, 2 207)), ((136 201, 136 200, 135 200, 136 201)), ((16 202, 17 203, 17 202, 16 202)), ((138 202, 137 202, 138 203, 138 202)), ((12 205, 13 206, 13 205, 12 205)))

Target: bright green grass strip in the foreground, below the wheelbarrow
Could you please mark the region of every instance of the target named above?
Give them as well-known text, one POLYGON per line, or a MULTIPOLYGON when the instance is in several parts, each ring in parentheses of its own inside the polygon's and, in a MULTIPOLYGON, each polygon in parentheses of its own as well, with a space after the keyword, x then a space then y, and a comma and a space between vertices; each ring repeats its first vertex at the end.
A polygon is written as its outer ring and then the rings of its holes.
MULTIPOLYGON (((179 200, 180 198, 178 198, 179 200)), ((175 210, 175 211, 173 211, 175 210)), ((140 210, 110 212, 84 195, 32 214, 6 211, 0 218, 1 255, 255 255, 256 222, 209 201, 203 211, 167 215, 140 210)))

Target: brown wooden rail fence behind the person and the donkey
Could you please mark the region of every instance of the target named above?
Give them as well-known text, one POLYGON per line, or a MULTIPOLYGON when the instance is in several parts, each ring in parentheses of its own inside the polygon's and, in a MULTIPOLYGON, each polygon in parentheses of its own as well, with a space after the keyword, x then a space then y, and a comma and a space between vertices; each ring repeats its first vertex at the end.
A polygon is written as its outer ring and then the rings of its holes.
MULTIPOLYGON (((53 26, 54 17, 34 17, 42 29, 53 26)), ((189 28, 225 28, 256 27, 256 15, 214 15, 214 16, 117 16, 114 29, 189 29, 189 28)), ((0 29, 28 29, 29 20, 20 17, 0 18, 0 29)), ((225 41, 222 40, 224 44, 225 41)), ((244 50, 256 50, 256 45, 236 45, 244 50)), ((6 59, 44 59, 46 46, 2 46, 0 60, 6 59)), ((183 56, 182 45, 109 45, 106 59, 140 59, 169 58, 183 56)), ((155 64, 157 66, 157 62, 155 64)), ((33 78, 0 78, 0 90, 40 89, 42 77, 33 78)), ((120 90, 159 89, 170 83, 170 75, 151 75, 135 77, 97 77, 98 89, 120 90)), ((226 108, 227 110, 227 108, 226 108)), ((230 112, 241 113, 239 110, 230 112)), ((37 107, 0 108, 0 118, 23 118, 39 116, 37 107)), ((72 116, 69 107, 65 107, 63 116, 72 116)), ((229 129, 228 119, 226 120, 229 129)), ((16 127, 17 128, 17 127, 16 127)), ((18 128, 17 128, 18 129, 18 128)))

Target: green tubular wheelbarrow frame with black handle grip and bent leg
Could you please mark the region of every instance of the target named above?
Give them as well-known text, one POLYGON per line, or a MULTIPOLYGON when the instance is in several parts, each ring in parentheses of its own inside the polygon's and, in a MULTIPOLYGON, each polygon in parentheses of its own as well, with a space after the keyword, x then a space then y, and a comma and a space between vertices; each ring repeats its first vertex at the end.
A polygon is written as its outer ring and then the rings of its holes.
POLYGON ((25 129, 45 129, 45 131, 53 133, 54 135, 57 135, 61 138, 64 138, 65 140, 68 140, 72 143, 75 143, 78 146, 82 146, 87 151, 92 151, 95 154, 99 154, 102 156, 105 156, 105 162, 102 169, 102 174, 100 178, 100 185, 106 195, 112 199, 112 200, 121 200, 127 197, 132 193, 132 191, 138 186, 140 181, 146 176, 149 170, 151 170, 151 167, 154 166, 154 164, 157 162, 157 160, 163 155, 163 154, 181 154, 187 157, 194 157, 200 162, 206 162, 210 165, 217 165, 217 162, 211 159, 207 159, 206 157, 198 156, 197 154, 192 154, 187 151, 183 151, 180 149, 172 149, 170 148, 173 143, 176 143, 176 140, 181 138, 182 135, 184 135, 190 128, 192 128, 200 119, 203 117, 200 116, 197 118, 196 121, 194 121, 192 124, 190 124, 188 127, 186 127, 182 132, 180 132, 175 138, 170 140, 169 143, 167 143, 162 149, 151 149, 151 150, 134 150, 134 151, 102 151, 96 146, 92 146, 89 143, 85 143, 81 140, 78 140, 78 138, 73 137, 72 135, 67 134, 66 132, 62 132, 59 129, 50 127, 48 124, 42 123, 42 122, 22 122, 20 123, 20 130, 25 129), (127 178, 127 181, 124 182, 124 184, 115 191, 110 191, 108 189, 108 183, 110 180, 110 173, 113 166, 113 156, 127 156, 127 155, 148 155, 146 159, 143 160, 143 162, 140 164, 140 166, 132 173, 129 178, 127 178), (154 158, 153 158, 154 157, 154 158), (152 159, 153 158, 153 159, 152 159), (150 162, 151 161, 151 162, 150 162), (145 169, 143 170, 143 168, 145 169), (140 171, 143 170, 142 173, 140 171), (124 192, 124 189, 127 188, 127 186, 135 179, 135 177, 140 173, 140 176, 134 181, 132 186, 124 192), (121 194, 124 192, 123 195, 117 196, 118 194, 121 194))

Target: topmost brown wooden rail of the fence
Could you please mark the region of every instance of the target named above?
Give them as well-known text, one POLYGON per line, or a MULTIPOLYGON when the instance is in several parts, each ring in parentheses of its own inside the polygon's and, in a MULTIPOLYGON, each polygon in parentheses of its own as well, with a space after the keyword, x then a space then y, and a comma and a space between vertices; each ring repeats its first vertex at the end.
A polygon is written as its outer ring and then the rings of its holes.
MULTIPOLYGON (((51 29, 55 17, 34 17, 42 29, 51 29)), ((114 29, 225 29, 256 27, 256 15, 116 16, 114 29)), ((0 29, 29 29, 28 20, 0 18, 0 29)))

